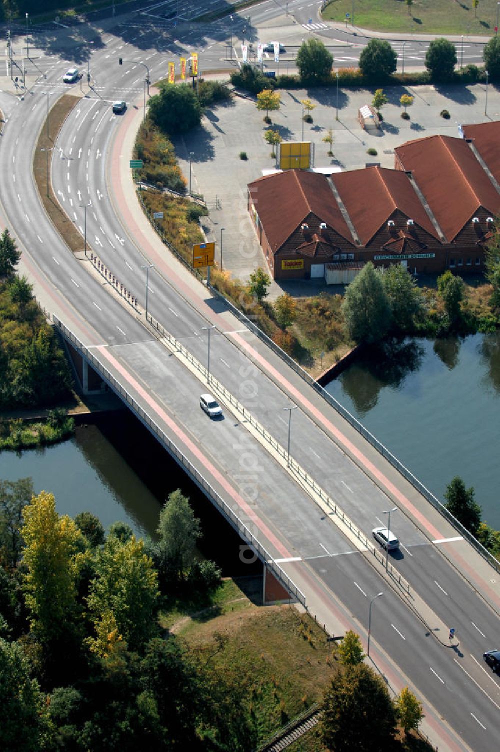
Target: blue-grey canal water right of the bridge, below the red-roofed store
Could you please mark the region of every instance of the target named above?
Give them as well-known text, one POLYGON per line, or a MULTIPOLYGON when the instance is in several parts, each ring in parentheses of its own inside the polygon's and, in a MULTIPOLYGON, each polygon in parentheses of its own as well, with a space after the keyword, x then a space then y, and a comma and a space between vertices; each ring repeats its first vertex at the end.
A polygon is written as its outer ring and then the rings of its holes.
POLYGON ((500 529, 500 335, 366 351, 326 390, 443 500, 459 475, 500 529))

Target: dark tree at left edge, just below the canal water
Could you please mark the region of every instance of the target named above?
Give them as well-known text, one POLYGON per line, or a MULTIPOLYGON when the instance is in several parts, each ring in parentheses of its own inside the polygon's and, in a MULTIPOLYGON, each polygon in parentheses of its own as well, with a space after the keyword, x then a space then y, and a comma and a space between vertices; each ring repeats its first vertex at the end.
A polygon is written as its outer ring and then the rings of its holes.
POLYGON ((4 559, 14 569, 23 544, 21 527, 23 509, 33 496, 31 478, 19 481, 0 481, 0 561, 4 559))

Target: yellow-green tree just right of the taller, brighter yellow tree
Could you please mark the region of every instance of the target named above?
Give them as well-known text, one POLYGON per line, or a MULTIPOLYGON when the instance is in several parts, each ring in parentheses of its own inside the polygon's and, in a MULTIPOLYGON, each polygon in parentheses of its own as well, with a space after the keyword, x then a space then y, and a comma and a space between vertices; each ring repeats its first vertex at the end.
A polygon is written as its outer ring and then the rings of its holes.
POLYGON ((135 535, 122 542, 114 535, 97 553, 95 578, 89 585, 87 603, 95 637, 92 652, 105 657, 117 642, 141 652, 156 632, 158 584, 153 559, 144 553, 144 541, 135 535))

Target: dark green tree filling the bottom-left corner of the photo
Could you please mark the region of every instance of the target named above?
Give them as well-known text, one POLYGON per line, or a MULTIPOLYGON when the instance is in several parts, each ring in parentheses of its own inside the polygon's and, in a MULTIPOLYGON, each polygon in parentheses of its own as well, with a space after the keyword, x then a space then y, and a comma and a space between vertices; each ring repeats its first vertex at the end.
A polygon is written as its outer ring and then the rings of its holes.
MULTIPOLYGON (((38 752, 47 730, 47 709, 38 681, 16 642, 0 638, 0 749, 38 752)), ((46 748, 46 747, 43 747, 46 748)))

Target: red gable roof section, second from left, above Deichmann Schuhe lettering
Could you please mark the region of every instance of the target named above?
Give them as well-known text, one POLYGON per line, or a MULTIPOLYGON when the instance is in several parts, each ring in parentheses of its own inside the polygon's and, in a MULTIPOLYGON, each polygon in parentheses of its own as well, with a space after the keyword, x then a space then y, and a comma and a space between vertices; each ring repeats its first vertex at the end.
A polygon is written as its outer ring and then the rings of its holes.
POLYGON ((368 245, 395 209, 437 238, 434 226, 404 172, 367 167, 333 174, 332 183, 335 183, 363 245, 368 245))

